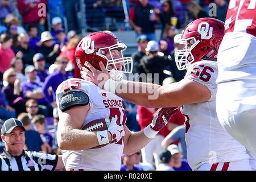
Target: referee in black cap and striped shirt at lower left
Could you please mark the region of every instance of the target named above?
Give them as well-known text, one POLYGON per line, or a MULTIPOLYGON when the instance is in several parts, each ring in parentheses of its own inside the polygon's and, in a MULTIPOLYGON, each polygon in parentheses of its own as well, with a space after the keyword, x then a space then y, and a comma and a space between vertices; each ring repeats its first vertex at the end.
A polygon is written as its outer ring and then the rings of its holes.
POLYGON ((65 168, 61 155, 24 151, 23 123, 10 118, 3 123, 1 139, 5 148, 0 155, 0 171, 53 171, 65 168))

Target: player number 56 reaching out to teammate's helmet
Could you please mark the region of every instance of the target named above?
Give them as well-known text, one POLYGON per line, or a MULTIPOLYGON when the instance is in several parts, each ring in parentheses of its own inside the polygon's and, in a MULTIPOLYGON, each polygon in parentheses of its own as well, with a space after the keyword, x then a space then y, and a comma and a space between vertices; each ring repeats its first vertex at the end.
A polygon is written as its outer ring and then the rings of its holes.
MULTIPOLYGON (((213 18, 196 19, 185 27, 180 39, 184 49, 175 52, 177 67, 187 69, 183 80, 168 85, 142 82, 116 82, 100 64, 108 80, 97 78, 98 71, 89 63, 83 68, 82 77, 90 77, 94 83, 113 92, 123 99, 146 107, 173 107, 183 105, 181 112, 185 121, 187 159, 193 170, 251 170, 246 148, 231 137, 220 125, 216 114, 217 52, 224 36, 224 22, 213 18), (113 86, 109 86, 113 85, 113 86), (152 93, 125 93, 123 88, 134 90, 155 88, 152 93), (111 88, 111 89, 110 89, 111 88), (121 89, 122 88, 122 89, 121 89), (139 89, 138 89, 139 88, 139 89)), ((89 78, 88 78, 89 79, 89 78)))

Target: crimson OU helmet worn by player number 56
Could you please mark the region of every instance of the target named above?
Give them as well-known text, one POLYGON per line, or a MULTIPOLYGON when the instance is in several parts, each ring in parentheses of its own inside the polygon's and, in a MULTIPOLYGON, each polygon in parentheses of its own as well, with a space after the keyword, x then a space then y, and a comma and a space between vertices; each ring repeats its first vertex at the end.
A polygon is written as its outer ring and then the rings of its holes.
POLYGON ((224 22, 215 18, 200 18, 189 23, 178 41, 185 47, 175 51, 177 68, 183 70, 197 61, 217 58, 224 30, 224 22))

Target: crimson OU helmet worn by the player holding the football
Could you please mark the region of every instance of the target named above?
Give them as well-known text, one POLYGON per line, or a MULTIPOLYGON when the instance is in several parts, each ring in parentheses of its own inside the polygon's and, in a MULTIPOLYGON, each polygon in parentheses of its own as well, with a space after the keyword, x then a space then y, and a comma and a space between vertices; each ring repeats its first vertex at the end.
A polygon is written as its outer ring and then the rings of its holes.
MULTIPOLYGON (((123 73, 131 73, 133 71, 133 59, 131 57, 123 57, 123 51, 127 46, 122 43, 112 32, 99 31, 86 35, 76 48, 76 62, 78 67, 85 67, 85 61, 88 61, 92 66, 98 70, 100 68, 100 61, 105 65, 105 68, 110 72, 110 75, 114 73, 115 77, 123 76, 123 73), (117 49, 119 52, 118 59, 114 59, 112 51, 117 49), (107 53, 110 53, 111 59, 106 57, 107 53), (117 76, 118 75, 118 76, 117 76)), ((122 79, 122 78, 121 78, 122 79)), ((116 79, 114 79, 116 80, 116 79)))

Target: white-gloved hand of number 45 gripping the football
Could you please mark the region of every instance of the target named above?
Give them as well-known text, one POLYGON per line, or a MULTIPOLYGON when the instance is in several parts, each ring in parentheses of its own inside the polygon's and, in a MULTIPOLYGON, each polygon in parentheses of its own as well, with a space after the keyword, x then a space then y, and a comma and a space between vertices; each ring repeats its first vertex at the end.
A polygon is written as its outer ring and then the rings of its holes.
POLYGON ((109 143, 116 143, 125 135, 123 125, 117 121, 117 118, 112 118, 108 131, 112 135, 112 140, 109 143))

